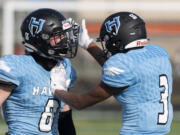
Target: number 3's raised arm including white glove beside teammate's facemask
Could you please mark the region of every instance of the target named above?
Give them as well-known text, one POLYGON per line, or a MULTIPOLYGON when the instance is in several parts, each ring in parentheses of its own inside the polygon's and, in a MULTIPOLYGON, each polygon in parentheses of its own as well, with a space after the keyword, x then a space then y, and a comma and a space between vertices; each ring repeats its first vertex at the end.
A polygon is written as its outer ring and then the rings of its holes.
POLYGON ((79 35, 79 46, 87 50, 91 56, 94 57, 101 66, 103 66, 104 62, 106 61, 104 52, 93 42, 93 39, 89 37, 84 19, 82 20, 82 26, 79 35))

